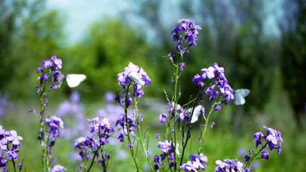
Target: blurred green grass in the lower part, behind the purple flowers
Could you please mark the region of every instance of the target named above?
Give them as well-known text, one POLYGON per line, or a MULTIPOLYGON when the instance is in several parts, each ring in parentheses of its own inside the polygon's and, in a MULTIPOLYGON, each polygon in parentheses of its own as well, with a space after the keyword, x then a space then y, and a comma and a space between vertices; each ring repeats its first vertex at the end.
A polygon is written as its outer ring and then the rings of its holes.
MULTIPOLYGON (((33 114, 28 113, 28 110, 34 104, 36 104, 36 102, 17 103, 13 110, 8 111, 5 116, 0 117, 0 125, 3 125, 6 130, 17 130, 18 134, 24 138, 22 141, 23 147, 19 153, 19 160, 24 158, 24 164, 27 171, 41 171, 41 149, 39 141, 37 140, 39 119, 33 114)), ((103 107, 102 102, 86 103, 85 111, 87 116, 93 117, 95 111, 101 107, 103 107)), ((231 108, 228 107, 228 109, 231 108)), ((272 151, 269 160, 260 160, 260 166, 255 171, 304 171, 303 157, 306 156, 306 134, 297 132, 294 129, 294 123, 291 118, 288 117, 289 115, 282 115, 282 118, 276 117, 275 115, 276 113, 290 113, 288 107, 283 106, 276 108, 273 104, 268 105, 264 114, 258 114, 254 118, 247 118, 251 120, 246 120, 244 123, 245 125, 241 128, 242 131, 240 133, 242 134, 239 136, 233 134, 232 127, 230 127, 228 122, 232 117, 230 114, 231 110, 225 110, 225 108, 222 110, 224 110, 222 113, 213 115, 213 120, 216 120, 216 126, 210 129, 206 135, 207 137, 203 150, 203 153, 207 155, 209 160, 206 171, 213 171, 215 167, 214 161, 217 159, 237 158, 243 160, 237 152, 240 148, 254 148, 252 139, 253 133, 257 131, 265 132, 262 128, 262 122, 265 124, 268 123, 270 127, 275 126, 275 128, 282 131, 283 149, 280 155, 277 155, 276 151, 272 151), (284 108, 284 110, 281 108, 284 108), (266 113, 272 115, 267 115, 266 113)), ((47 110, 48 114, 52 115, 55 111, 56 105, 51 104, 47 110)), ((157 148, 158 140, 154 138, 154 134, 162 133, 163 129, 161 124, 155 122, 158 121, 159 114, 152 110, 142 110, 142 112, 144 112, 142 126, 150 128, 149 149, 152 151, 152 156, 160 154, 161 152, 157 148)), ((199 144, 197 141, 198 136, 198 130, 193 129, 192 145, 188 146, 184 161, 188 160, 188 155, 197 152, 199 144)), ((132 158, 129 156, 125 143, 119 147, 126 150, 128 156, 124 160, 118 160, 116 153, 113 153, 112 163, 110 165, 111 171, 135 171, 132 158)), ((72 150, 73 141, 67 141, 64 138, 59 138, 54 147, 54 155, 58 157, 58 163, 65 165, 68 169, 67 171, 76 171, 77 165, 68 158, 68 154, 72 150)), ((107 150, 116 152, 118 146, 107 145, 107 150)), ((146 159, 143 158, 140 147, 137 161, 141 168, 146 164, 146 159)), ((93 171, 100 171, 99 167, 99 164, 95 164, 95 170, 93 171)))

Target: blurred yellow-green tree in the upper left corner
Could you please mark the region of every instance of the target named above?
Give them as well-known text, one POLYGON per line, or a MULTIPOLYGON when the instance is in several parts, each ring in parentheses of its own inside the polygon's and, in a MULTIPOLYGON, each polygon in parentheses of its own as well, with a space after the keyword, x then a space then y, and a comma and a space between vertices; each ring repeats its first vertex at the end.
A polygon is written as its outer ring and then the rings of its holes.
POLYGON ((25 1, 22 5, 22 9, 14 10, 20 15, 15 21, 16 28, 11 30, 14 39, 8 45, 10 52, 4 58, 8 62, 2 70, 5 75, 9 73, 14 77, 1 77, 7 79, 2 82, 6 83, 3 86, 15 97, 34 95, 37 74, 33 66, 39 66, 43 59, 52 55, 60 57, 63 39, 62 21, 56 11, 46 10, 45 1, 25 1), (29 88, 33 88, 32 91, 29 88))

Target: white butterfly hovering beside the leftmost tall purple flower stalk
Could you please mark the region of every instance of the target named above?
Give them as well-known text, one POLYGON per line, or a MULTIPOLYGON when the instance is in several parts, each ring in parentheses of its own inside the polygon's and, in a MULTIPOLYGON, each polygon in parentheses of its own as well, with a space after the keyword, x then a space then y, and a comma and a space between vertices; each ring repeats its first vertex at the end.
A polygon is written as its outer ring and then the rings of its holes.
MULTIPOLYGON (((60 86, 63 84, 65 79, 65 75, 60 74, 58 76, 58 80, 56 82, 56 87, 60 88, 60 86)), ((85 74, 67 74, 66 76, 66 82, 68 84, 68 87, 74 88, 77 87, 81 82, 83 82, 86 79, 85 74)))

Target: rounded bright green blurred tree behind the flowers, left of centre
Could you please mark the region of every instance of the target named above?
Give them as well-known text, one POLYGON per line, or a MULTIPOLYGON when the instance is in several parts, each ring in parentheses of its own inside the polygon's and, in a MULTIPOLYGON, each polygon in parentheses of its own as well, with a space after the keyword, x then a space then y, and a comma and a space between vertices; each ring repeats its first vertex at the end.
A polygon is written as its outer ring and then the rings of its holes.
MULTIPOLYGON (((70 60, 74 64, 70 70, 86 73, 82 91, 93 97, 97 96, 97 91, 102 92, 99 96, 106 91, 117 92, 117 74, 129 62, 144 68, 152 82, 156 82, 155 72, 152 72, 156 69, 145 60, 149 55, 148 45, 135 30, 119 21, 109 19, 94 23, 88 37, 75 45, 71 54, 70 58, 75 60, 70 60)), ((152 87, 145 90, 146 94, 154 92, 152 87)))

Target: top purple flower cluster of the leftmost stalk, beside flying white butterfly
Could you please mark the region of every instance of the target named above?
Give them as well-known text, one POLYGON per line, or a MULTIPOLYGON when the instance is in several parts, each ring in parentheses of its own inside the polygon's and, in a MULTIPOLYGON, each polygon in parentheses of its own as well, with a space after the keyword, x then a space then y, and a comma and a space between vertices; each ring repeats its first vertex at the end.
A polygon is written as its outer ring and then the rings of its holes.
POLYGON ((41 64, 41 67, 38 67, 36 72, 40 74, 37 78, 40 80, 40 85, 36 86, 37 94, 41 96, 46 90, 46 83, 50 82, 49 91, 55 90, 60 87, 64 75, 60 72, 59 69, 62 68, 62 61, 56 56, 52 56, 50 59, 44 60, 41 64))

